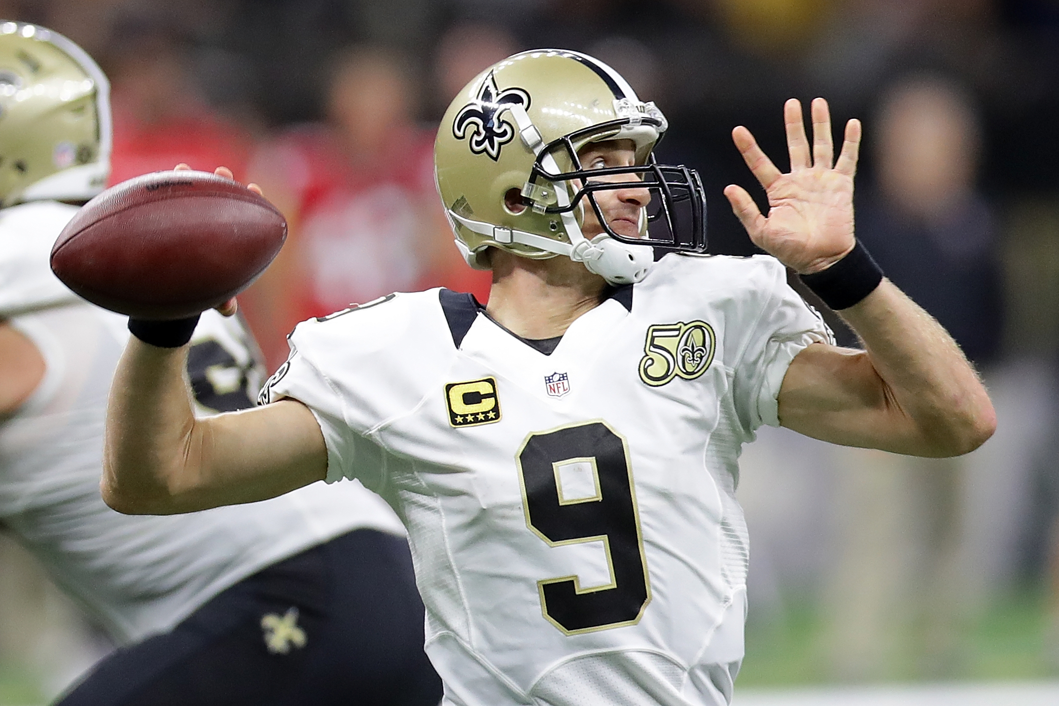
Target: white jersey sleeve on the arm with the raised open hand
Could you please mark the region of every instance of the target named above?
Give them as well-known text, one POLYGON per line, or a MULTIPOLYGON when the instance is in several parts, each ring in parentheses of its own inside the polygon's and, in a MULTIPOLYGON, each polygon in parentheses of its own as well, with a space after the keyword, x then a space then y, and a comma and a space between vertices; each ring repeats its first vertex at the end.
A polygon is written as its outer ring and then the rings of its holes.
POLYGON ((834 343, 823 316, 787 284, 784 266, 771 257, 761 263, 753 277, 751 325, 734 366, 736 411, 748 432, 779 426, 779 386, 794 356, 812 343, 834 343))

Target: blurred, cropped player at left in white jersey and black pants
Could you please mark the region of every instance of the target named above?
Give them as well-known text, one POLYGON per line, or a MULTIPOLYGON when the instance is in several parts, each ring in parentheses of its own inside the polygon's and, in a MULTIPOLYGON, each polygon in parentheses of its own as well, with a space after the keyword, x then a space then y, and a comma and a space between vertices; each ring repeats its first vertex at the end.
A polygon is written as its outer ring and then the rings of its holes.
MULTIPOLYGON (((0 526, 121 645, 62 704, 434 706, 403 528, 359 484, 196 515, 100 497, 107 393, 128 337, 49 254, 107 178, 106 77, 54 32, 0 21, 0 526)), ((203 315, 196 414, 252 406, 256 346, 203 315)))

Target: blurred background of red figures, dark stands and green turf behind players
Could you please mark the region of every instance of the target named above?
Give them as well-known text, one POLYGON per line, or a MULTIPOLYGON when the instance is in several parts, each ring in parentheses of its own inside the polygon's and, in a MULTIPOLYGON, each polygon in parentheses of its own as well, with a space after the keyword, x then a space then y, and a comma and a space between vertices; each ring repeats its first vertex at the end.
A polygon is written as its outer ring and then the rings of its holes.
MULTIPOLYGON (((240 297, 273 368, 294 323, 349 302, 485 301, 431 146, 516 51, 588 52, 658 103, 660 160, 702 174, 715 253, 754 252, 721 195, 753 184, 735 125, 786 168, 787 97, 862 119, 858 236, 973 359, 1000 426, 946 460, 762 430, 738 687, 1059 676, 1059 0, 0 0, 0 18, 110 75, 112 181, 225 164, 285 212, 287 247, 240 297)), ((0 704, 42 703, 109 649, 0 531, 0 704)))

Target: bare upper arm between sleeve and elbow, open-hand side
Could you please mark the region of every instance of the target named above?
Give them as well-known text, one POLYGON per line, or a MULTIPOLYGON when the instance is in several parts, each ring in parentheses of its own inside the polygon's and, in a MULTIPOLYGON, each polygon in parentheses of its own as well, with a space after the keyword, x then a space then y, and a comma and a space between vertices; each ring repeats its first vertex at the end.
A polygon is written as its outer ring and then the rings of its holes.
POLYGON ((824 441, 902 452, 916 435, 863 350, 807 346, 791 361, 777 403, 783 427, 824 441))

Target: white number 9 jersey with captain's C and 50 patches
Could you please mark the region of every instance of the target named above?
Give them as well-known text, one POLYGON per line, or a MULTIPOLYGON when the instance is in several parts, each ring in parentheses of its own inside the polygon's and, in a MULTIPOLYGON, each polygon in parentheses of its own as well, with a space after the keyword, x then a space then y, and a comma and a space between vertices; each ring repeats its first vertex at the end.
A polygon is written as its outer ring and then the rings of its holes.
POLYGON ((742 658, 740 447, 829 340, 772 257, 671 254, 551 355, 447 290, 300 324, 265 395, 405 522, 447 704, 713 705, 742 658))

